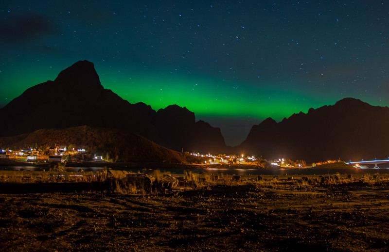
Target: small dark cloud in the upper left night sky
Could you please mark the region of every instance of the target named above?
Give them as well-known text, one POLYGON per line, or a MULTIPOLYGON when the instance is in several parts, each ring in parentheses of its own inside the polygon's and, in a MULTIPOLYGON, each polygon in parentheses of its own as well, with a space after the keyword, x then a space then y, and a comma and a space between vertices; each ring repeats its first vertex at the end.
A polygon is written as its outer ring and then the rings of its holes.
POLYGON ((26 42, 54 31, 47 16, 31 13, 9 17, 0 23, 0 38, 8 43, 26 42))

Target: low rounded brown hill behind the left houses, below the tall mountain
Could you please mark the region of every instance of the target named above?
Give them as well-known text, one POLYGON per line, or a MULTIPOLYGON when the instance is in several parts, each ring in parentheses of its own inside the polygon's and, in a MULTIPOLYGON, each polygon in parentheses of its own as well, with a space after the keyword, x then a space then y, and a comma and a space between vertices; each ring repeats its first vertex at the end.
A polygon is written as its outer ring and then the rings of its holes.
POLYGON ((41 149, 63 144, 75 144, 91 155, 108 154, 113 160, 122 162, 165 162, 173 164, 200 163, 200 158, 160 146, 139 135, 99 127, 78 126, 65 129, 39 129, 16 137, 0 138, 1 147, 23 148, 26 144, 41 149))

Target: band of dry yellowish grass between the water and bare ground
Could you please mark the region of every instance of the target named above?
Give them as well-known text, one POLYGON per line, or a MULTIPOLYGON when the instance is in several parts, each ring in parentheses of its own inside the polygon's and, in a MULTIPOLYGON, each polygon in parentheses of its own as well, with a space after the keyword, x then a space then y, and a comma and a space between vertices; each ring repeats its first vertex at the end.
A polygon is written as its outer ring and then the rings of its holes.
MULTIPOLYGON (((387 174, 332 174, 332 175, 242 175, 195 173, 184 171, 177 175, 169 172, 153 171, 152 181, 129 182, 126 171, 64 172, 54 167, 49 172, 0 171, 0 184, 41 184, 41 183, 105 183, 106 190, 120 194, 159 195, 178 193, 185 190, 210 190, 217 186, 255 185, 264 189, 315 189, 323 187, 372 187, 389 185, 387 174), (170 182, 169 182, 170 181, 170 182)), ((146 178, 147 176, 145 176, 146 178)), ((144 178, 144 179, 145 179, 144 178)))

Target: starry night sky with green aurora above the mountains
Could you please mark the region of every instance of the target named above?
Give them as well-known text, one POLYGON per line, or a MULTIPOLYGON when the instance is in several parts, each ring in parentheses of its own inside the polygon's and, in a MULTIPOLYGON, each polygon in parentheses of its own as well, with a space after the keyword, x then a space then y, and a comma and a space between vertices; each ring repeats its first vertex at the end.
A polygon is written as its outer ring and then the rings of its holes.
POLYGON ((0 106, 79 60, 103 86, 171 104, 242 142, 344 97, 389 106, 389 1, 34 1, 0 4, 0 106))

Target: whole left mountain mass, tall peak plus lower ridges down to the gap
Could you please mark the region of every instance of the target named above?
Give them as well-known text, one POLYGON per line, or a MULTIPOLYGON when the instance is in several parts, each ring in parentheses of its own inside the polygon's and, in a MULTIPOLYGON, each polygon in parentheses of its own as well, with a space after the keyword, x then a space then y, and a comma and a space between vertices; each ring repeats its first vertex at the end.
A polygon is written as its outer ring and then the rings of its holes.
POLYGON ((88 61, 74 63, 54 81, 27 89, 0 109, 0 117, 6 118, 0 124, 0 136, 87 125, 133 132, 177 151, 210 152, 226 147, 220 129, 207 124, 199 131, 197 125, 203 123, 195 122, 194 113, 186 108, 175 105, 156 112, 104 89, 88 61), (212 134, 218 135, 211 139, 212 134), (198 141, 205 144, 199 146, 198 141))

